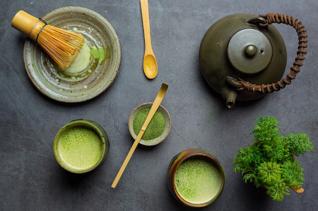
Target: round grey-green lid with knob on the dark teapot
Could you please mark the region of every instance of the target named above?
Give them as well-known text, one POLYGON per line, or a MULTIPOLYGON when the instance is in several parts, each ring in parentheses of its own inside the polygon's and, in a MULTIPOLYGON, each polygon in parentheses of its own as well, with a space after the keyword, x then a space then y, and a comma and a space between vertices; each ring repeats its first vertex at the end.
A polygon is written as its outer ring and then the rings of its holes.
POLYGON ((263 32, 246 28, 237 31, 231 37, 227 53, 230 63, 239 72, 256 74, 271 62, 273 47, 263 32))

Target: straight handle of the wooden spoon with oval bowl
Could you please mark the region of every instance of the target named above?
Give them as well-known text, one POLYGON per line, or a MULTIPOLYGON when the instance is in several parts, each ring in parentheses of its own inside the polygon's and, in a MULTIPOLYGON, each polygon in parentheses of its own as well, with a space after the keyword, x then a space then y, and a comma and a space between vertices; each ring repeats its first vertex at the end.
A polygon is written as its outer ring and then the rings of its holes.
POLYGON ((140 0, 142 24, 144 27, 146 53, 151 53, 150 23, 148 12, 148 0, 140 0))

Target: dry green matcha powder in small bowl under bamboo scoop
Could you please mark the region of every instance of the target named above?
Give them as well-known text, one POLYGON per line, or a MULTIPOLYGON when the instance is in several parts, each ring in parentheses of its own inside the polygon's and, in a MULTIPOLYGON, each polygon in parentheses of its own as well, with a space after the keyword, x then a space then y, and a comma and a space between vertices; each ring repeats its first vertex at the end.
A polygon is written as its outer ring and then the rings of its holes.
MULTIPOLYGON (((144 124, 149 111, 150 111, 150 108, 144 108, 140 110, 135 116, 133 121, 133 129, 136 135, 138 135, 139 131, 141 130, 141 127, 144 124)), ((145 130, 142 136, 142 139, 147 141, 147 140, 152 140, 159 137, 164 132, 165 126, 166 126, 165 116, 160 111, 157 110, 154 116, 152 117, 151 121, 149 122, 147 129, 145 130)))

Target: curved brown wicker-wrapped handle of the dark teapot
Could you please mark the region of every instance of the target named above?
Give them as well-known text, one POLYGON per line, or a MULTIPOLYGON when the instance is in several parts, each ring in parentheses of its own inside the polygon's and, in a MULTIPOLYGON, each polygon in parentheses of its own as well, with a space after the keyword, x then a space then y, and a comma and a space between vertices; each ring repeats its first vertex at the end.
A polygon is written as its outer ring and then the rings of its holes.
POLYGON ((293 79, 296 78, 296 74, 300 71, 300 67, 303 65, 303 60, 305 59, 305 54, 307 53, 307 34, 304 25, 302 25, 301 21, 297 20, 288 15, 282 14, 274 14, 268 13, 266 15, 259 15, 267 20, 267 23, 259 23, 260 26, 264 27, 268 24, 272 23, 284 23, 293 26, 298 33, 298 51, 297 57, 295 59, 293 67, 291 67, 291 72, 287 75, 287 77, 283 78, 281 81, 277 81, 276 83, 271 83, 267 85, 255 85, 248 81, 243 80, 242 78, 238 78, 238 83, 241 83, 242 87, 237 88, 237 90, 247 90, 249 92, 253 92, 256 94, 266 94, 272 93, 274 91, 279 91, 280 89, 285 88, 286 85, 289 85, 293 79))

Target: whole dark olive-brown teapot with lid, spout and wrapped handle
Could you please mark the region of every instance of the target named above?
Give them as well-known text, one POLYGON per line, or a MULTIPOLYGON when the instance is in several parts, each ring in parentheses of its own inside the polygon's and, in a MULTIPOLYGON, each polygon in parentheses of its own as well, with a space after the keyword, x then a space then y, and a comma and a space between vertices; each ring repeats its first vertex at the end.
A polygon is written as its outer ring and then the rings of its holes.
POLYGON ((279 91, 295 79, 307 48, 307 34, 300 21, 291 16, 233 14, 215 22, 201 41, 201 72, 228 108, 236 100, 254 100, 279 91), (291 72, 282 78, 287 62, 283 38, 272 23, 293 26, 299 39, 291 72))

